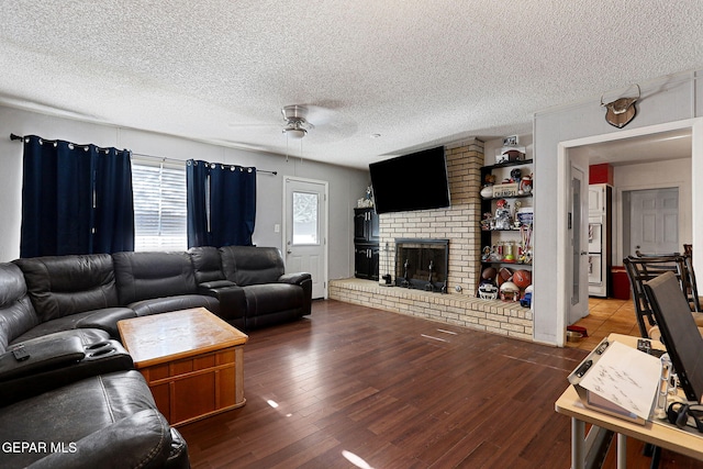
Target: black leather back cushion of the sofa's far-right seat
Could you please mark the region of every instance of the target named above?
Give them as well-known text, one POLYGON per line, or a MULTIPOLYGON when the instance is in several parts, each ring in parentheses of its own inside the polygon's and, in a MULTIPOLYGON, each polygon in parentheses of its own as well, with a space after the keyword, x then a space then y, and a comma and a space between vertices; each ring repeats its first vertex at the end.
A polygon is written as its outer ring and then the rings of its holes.
POLYGON ((225 278, 241 287, 277 282, 286 271, 276 247, 224 246, 220 255, 225 278))

